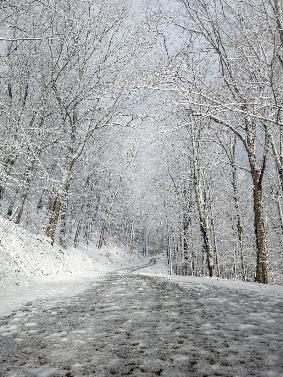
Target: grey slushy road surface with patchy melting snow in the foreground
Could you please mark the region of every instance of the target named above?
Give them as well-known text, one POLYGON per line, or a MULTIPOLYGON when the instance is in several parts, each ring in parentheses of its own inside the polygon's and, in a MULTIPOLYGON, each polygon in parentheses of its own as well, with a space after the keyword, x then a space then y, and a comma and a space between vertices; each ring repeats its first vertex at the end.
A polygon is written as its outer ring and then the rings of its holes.
POLYGON ((0 375, 282 376, 283 297, 214 281, 124 270, 30 302, 2 318, 0 375))

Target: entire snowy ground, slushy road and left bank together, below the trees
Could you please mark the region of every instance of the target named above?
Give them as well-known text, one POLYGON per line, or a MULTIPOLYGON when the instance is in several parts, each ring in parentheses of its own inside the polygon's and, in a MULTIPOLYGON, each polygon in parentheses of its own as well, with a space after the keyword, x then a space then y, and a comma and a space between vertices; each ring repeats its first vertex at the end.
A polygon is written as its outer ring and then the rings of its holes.
POLYGON ((62 253, 0 225, 0 375, 283 375, 283 287, 169 276, 117 247, 62 253))

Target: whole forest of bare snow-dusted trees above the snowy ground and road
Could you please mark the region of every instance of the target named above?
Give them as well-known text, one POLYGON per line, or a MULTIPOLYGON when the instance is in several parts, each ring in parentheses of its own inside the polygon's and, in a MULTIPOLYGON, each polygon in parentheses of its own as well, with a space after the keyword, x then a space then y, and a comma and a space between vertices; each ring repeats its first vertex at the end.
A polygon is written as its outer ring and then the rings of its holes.
POLYGON ((0 215, 283 283, 281 0, 3 0, 0 215))

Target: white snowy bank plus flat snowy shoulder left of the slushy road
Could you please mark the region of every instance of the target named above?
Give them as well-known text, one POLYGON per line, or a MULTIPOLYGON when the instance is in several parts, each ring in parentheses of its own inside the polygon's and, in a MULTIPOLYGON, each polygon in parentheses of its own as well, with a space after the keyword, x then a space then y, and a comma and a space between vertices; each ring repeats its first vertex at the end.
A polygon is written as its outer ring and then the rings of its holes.
POLYGON ((146 260, 115 245, 60 249, 0 217, 0 316, 36 297, 77 294, 106 271, 146 260))

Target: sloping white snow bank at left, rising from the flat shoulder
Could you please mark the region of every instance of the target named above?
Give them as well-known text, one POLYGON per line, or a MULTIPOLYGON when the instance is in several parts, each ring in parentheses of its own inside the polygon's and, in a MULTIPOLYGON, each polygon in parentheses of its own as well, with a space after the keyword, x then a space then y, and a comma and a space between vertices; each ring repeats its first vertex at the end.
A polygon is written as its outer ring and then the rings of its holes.
POLYGON ((142 264, 145 258, 119 247, 95 245, 61 250, 48 238, 31 234, 0 217, 0 290, 60 280, 86 271, 142 264))

